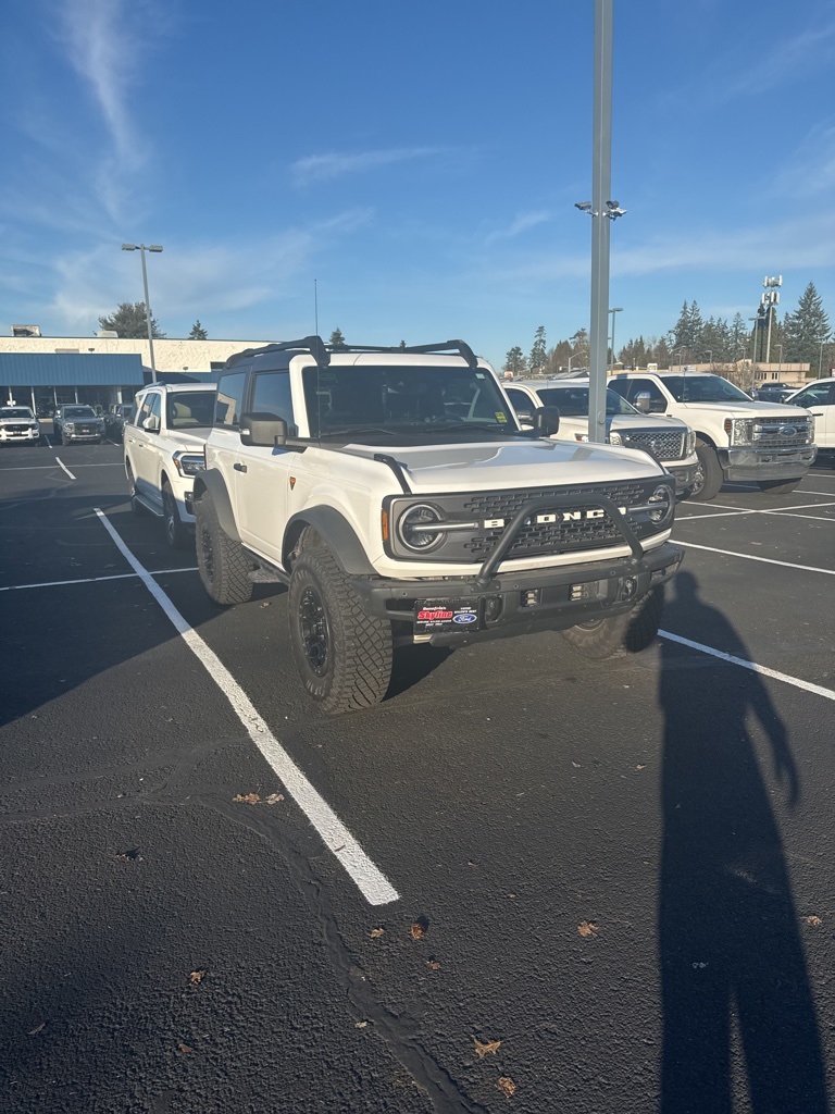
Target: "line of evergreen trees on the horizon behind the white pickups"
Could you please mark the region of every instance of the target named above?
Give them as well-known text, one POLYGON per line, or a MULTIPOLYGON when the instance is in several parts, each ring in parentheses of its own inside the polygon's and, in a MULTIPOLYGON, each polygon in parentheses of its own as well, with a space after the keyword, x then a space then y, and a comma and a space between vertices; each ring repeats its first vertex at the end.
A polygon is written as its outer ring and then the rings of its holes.
MULTIPOLYGON (((817 373, 824 355, 828 355, 826 348, 831 341, 828 314, 815 284, 809 283, 793 313, 784 314, 780 321, 772 307, 768 313, 758 314, 753 325, 740 313, 733 321, 714 316, 706 321, 696 301, 685 302, 670 330, 661 336, 630 338, 617 352, 610 348, 608 363, 629 369, 646 368, 648 363, 669 368, 674 363, 733 365, 740 360, 754 360, 755 363, 808 363, 817 373)), ((546 328, 540 325, 530 352, 525 355, 520 345, 514 345, 502 370, 539 378, 588 367, 589 335, 584 329, 549 348, 546 328)))

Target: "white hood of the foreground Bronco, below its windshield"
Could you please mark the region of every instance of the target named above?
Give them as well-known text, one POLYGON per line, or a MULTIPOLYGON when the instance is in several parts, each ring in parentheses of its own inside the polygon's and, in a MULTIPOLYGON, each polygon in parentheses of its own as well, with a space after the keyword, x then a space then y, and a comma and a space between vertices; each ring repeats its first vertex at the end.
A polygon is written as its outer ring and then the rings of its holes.
POLYGON ((415 492, 629 482, 664 475, 644 453, 579 441, 490 441, 407 448, 352 444, 350 449, 370 459, 381 452, 393 457, 415 492))

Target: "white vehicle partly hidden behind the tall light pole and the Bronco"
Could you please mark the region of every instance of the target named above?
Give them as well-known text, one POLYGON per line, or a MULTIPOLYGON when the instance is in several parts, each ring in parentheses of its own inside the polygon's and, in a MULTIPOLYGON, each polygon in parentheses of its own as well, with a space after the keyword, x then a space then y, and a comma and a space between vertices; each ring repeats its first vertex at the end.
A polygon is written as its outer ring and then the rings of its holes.
MULTIPOLYGON (((537 407, 557 407, 563 441, 588 441, 588 379, 530 380, 504 384, 522 424, 537 407)), ((677 418, 642 414, 615 391, 606 392, 606 440, 626 449, 644 449, 659 460, 676 479, 676 495, 684 495, 696 476, 696 434, 677 418)))

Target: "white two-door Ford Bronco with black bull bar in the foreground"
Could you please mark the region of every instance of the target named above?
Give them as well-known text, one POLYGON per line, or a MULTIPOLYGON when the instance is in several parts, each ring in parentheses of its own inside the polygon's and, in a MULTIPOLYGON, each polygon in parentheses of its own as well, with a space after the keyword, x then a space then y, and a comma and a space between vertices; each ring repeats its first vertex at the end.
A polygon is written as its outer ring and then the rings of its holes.
POLYGON ((589 657, 655 637, 671 477, 650 456, 520 428, 462 341, 340 345, 318 336, 232 356, 206 470, 197 564, 218 604, 288 586, 289 636, 327 713, 383 698, 392 652, 562 631, 589 657))

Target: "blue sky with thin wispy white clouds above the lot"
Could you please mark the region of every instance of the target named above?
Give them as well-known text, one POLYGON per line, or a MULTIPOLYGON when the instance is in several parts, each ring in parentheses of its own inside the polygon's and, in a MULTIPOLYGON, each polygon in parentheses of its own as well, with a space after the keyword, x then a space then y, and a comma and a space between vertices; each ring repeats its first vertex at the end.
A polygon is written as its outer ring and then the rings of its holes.
MULTIPOLYGON (((0 333, 461 336, 589 324, 593 2, 28 0, 0 42, 0 333)), ((835 6, 615 0, 618 346, 780 311, 835 324, 835 6)))

